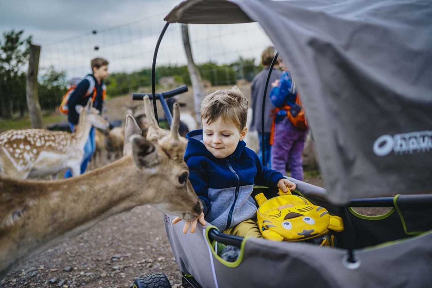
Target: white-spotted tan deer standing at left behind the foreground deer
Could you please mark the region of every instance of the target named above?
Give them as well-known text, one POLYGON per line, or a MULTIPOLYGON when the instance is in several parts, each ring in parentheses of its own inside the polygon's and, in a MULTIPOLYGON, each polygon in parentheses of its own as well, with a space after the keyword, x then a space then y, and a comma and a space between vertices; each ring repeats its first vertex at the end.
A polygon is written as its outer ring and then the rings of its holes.
POLYGON ((70 169, 78 176, 92 126, 108 128, 106 121, 89 101, 86 107, 76 106, 79 122, 76 133, 44 129, 9 130, 0 134, 0 173, 26 179, 50 175, 70 169))

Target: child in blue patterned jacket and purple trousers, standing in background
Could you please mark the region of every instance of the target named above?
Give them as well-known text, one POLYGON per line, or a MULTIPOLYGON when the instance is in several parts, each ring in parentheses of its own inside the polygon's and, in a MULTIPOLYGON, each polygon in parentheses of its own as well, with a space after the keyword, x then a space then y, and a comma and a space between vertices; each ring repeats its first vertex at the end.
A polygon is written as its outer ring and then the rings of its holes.
MULTIPOLYGON (((291 107, 290 112, 295 116, 295 113, 298 113, 301 107, 295 103, 297 89, 289 72, 285 71, 280 80, 276 80, 271 85, 273 89, 270 91, 270 99, 273 105, 280 108, 286 104, 291 107)), ((280 109, 276 113, 274 120, 271 167, 285 175, 288 164, 291 177, 303 180, 302 151, 305 147, 308 130, 292 125, 287 117, 287 111, 284 109, 280 109)))

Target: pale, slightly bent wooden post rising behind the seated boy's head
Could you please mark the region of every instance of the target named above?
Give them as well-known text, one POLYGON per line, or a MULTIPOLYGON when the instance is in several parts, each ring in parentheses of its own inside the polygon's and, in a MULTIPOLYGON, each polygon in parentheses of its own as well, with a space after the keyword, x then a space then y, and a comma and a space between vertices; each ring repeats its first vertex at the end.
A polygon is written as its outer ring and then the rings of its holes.
POLYGON ((189 41, 189 30, 187 29, 187 24, 181 24, 181 38, 183 39, 184 51, 186 52, 187 70, 189 71, 192 89, 194 90, 195 119, 198 123, 200 123, 200 103, 204 95, 204 87, 203 83, 201 82, 200 71, 198 71, 197 67, 195 66, 194 58, 192 57, 191 42, 189 41))

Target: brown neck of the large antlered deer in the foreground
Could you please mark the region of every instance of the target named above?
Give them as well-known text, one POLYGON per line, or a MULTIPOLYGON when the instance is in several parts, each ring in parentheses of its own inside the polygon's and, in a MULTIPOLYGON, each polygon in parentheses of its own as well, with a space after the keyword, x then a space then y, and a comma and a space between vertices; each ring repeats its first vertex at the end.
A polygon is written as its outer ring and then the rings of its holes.
POLYGON ((124 157, 82 176, 52 182, 2 179, 0 186, 20 193, 18 204, 25 201, 29 206, 21 222, 0 229, 0 278, 2 270, 19 259, 30 258, 111 215, 150 203, 156 188, 146 187, 148 198, 136 199, 137 189, 143 189, 143 175, 138 176, 132 161, 131 156, 124 157))

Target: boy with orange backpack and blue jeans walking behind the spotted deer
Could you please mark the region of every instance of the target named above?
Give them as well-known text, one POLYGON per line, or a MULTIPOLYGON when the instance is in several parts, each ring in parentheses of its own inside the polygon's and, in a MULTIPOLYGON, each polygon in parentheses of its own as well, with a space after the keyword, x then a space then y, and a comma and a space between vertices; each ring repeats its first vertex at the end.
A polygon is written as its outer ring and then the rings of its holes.
MULTIPOLYGON (((103 58, 94 58, 90 61, 92 67, 92 74, 84 77, 76 87, 71 87, 70 90, 63 96, 60 105, 60 112, 67 114, 67 121, 69 122, 70 130, 75 132, 78 125, 79 115, 75 110, 76 105, 86 106, 88 101, 93 102, 93 107, 102 113, 103 101, 106 96, 106 87, 103 83, 108 77, 108 61, 103 58)), ((95 152, 95 128, 92 127, 84 146, 84 157, 81 163, 81 171, 83 174, 86 171, 87 163, 92 158, 95 152)), ((64 178, 72 177, 70 170, 67 170, 64 178)))

